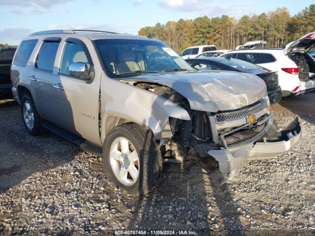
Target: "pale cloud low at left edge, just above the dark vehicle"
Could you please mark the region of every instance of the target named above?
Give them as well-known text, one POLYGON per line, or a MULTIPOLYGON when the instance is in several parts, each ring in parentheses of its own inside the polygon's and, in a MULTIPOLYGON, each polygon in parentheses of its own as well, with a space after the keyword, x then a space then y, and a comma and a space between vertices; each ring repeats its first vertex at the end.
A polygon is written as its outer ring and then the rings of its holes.
POLYGON ((0 43, 18 45, 30 32, 30 29, 0 27, 0 43))

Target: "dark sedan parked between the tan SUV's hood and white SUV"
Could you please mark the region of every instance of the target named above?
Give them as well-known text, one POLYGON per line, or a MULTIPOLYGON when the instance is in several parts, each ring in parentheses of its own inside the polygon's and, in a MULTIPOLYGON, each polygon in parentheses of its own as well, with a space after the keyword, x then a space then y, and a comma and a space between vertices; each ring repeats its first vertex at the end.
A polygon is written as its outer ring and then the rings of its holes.
POLYGON ((278 73, 275 71, 270 71, 259 65, 233 58, 209 57, 186 59, 186 61, 191 67, 200 71, 228 70, 254 74, 266 83, 270 104, 276 104, 282 98, 282 90, 278 84, 278 73))

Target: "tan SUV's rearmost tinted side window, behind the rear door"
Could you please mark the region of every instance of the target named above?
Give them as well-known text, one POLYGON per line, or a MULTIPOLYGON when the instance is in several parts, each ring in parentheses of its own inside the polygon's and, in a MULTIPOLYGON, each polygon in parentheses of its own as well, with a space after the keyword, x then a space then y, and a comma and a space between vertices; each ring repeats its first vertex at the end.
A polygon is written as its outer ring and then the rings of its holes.
POLYGON ((26 66, 37 42, 38 39, 22 41, 12 64, 26 66))

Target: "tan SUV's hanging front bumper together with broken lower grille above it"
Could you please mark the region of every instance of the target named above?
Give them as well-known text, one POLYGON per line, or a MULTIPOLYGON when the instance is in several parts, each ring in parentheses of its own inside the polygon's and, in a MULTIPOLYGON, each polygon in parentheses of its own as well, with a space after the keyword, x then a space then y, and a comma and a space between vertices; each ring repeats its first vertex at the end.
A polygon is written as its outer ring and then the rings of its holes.
POLYGON ((222 147, 220 150, 208 151, 208 154, 219 163, 222 174, 220 184, 233 178, 247 160, 266 160, 290 150, 299 143, 302 134, 298 117, 284 130, 278 131, 272 114, 262 116, 255 123, 247 123, 230 132, 232 133, 220 134, 219 131, 222 147), (230 144, 231 140, 235 142, 230 144))

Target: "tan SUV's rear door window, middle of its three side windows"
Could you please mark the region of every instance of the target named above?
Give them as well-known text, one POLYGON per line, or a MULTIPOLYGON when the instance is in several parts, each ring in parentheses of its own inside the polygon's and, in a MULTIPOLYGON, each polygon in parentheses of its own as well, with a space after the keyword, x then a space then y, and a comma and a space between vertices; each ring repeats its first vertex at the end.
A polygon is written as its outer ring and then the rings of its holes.
POLYGON ((36 67, 52 72, 58 47, 59 42, 44 42, 37 57, 36 67))

